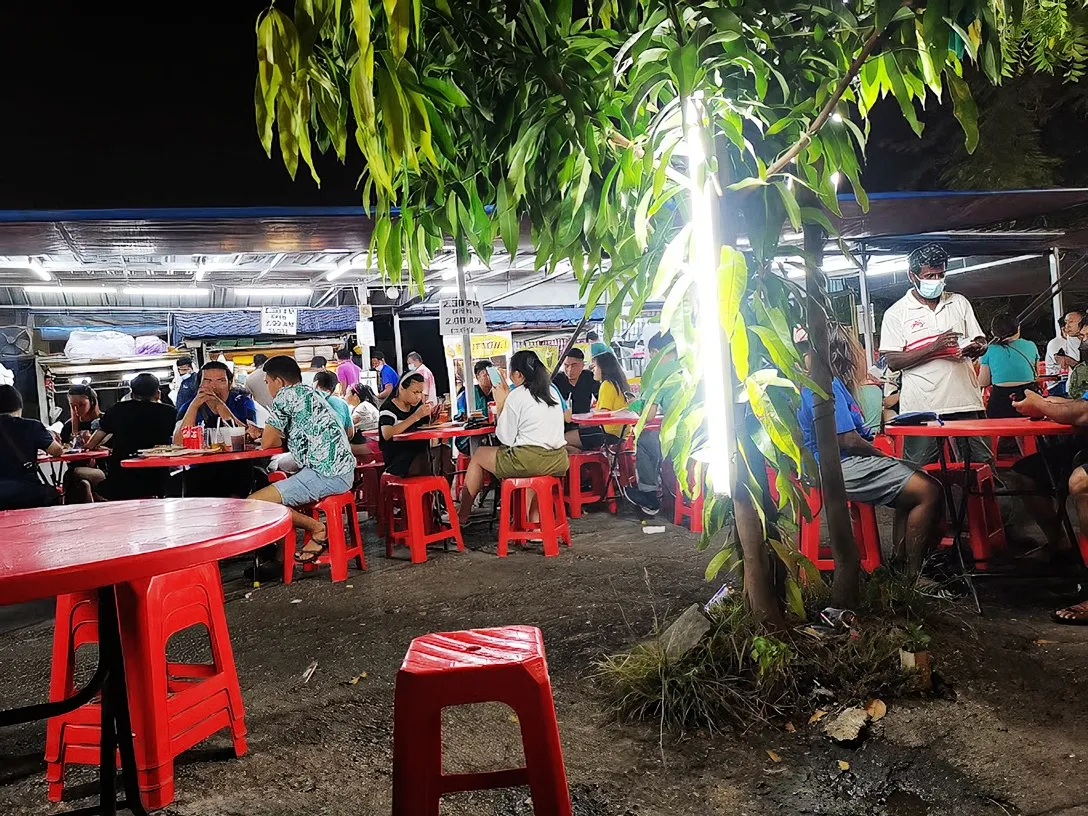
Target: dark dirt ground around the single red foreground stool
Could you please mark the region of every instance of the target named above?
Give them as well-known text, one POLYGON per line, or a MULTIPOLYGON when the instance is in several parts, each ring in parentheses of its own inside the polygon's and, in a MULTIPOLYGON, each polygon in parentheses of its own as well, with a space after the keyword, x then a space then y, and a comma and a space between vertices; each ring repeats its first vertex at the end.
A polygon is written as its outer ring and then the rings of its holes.
MULTIPOLYGON (((412 567, 384 557, 372 526, 364 532, 370 569, 353 570, 347 585, 322 573, 248 594, 240 565, 226 565, 249 753, 233 758, 218 735, 183 756, 176 802, 162 813, 388 814, 393 683, 411 639, 527 623, 544 631, 577 816, 1088 815, 1088 629, 1048 619, 1071 584, 985 586, 986 615, 965 616, 938 646, 955 698, 893 702, 856 750, 814 728, 678 741, 609 722, 591 675, 603 653, 709 597, 708 554, 695 551, 695 536, 671 526, 647 535, 633 516, 591 514, 573 522, 574 546, 558 558, 496 558, 483 527, 470 531, 465 554, 436 552, 412 567), (317 671, 302 684, 312 660, 317 671)), ((0 611, 0 705, 45 700, 49 607, 0 611)), ((183 634, 171 648, 184 658, 202 644, 183 634)), ((0 814, 59 809, 46 801, 44 734, 42 725, 0 732, 0 814)), ((447 712, 445 743, 447 771, 521 759, 517 725, 500 706, 447 712)), ((92 780, 89 770, 70 772, 75 794, 92 780)), ((515 789, 449 796, 443 813, 532 807, 528 790, 515 789)))

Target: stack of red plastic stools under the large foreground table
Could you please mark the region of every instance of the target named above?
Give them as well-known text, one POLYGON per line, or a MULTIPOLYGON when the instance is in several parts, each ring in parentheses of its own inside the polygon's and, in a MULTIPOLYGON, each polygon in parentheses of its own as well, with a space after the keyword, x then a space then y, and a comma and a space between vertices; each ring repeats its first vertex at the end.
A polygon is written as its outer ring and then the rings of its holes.
MULTIPOLYGON (((209 564, 118 586, 118 618, 128 681, 140 796, 148 809, 174 800, 174 757, 224 728, 234 753, 246 753, 245 708, 223 614, 219 567, 209 564), (202 626, 211 639, 211 664, 166 660, 171 635, 202 626)), ((98 643, 94 593, 57 599, 49 698, 74 689, 75 652, 98 643)), ((49 800, 64 792, 67 765, 98 765, 101 707, 88 703, 50 718, 46 727, 49 800)))

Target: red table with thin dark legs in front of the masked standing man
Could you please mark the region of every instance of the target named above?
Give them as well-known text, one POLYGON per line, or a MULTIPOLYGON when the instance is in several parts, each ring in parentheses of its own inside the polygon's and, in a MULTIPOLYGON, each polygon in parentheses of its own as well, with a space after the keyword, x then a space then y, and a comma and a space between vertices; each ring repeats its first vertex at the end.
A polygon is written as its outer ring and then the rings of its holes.
MULTIPOLYGON (((927 422, 922 425, 885 425, 885 433, 895 440, 895 452, 899 456, 902 456, 903 440, 907 436, 932 436, 945 440, 967 438, 973 436, 1037 437, 1061 436, 1076 432, 1076 429, 1073 426, 1061 422, 1053 422, 1048 419, 1029 419, 1027 417, 1017 417, 1014 419, 952 420, 944 422, 943 424, 927 422)), ((960 554, 961 564, 964 568, 964 579, 975 598, 975 606, 978 611, 981 613, 982 609, 978 601, 978 594, 975 592, 975 586, 970 581, 970 573, 967 570, 966 562, 963 561, 963 549, 960 542, 963 534, 964 521, 967 516, 967 495, 969 492, 968 485, 970 483, 970 448, 964 446, 964 483, 963 494, 961 496, 959 507, 956 506, 955 497, 952 491, 952 480, 948 479, 948 460, 943 445, 940 446, 939 452, 940 457, 938 461, 941 466, 941 483, 944 485, 945 502, 948 504, 950 519, 952 521, 952 540, 956 552, 960 554)), ((1047 467, 1047 473, 1050 477, 1051 487, 1056 490, 1058 482, 1055 474, 1050 469, 1050 462, 1047 457, 1042 457, 1042 461, 1047 467)), ((1058 504, 1058 511, 1062 520, 1062 526, 1065 528, 1065 532, 1070 536, 1070 541, 1076 541, 1076 533, 1073 531, 1073 524, 1070 521, 1068 515, 1065 512, 1063 503, 1059 502, 1058 504)))

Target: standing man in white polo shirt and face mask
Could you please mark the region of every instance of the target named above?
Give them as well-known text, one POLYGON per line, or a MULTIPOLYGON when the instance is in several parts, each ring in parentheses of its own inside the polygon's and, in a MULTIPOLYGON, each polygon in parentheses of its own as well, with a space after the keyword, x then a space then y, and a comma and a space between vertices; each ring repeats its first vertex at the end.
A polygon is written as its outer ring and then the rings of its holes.
MULTIPOLYGON (((901 413, 936 411, 942 419, 984 416, 982 392, 972 359, 986 350, 986 335, 963 295, 944 290, 948 252, 939 244, 918 247, 907 258, 912 288, 880 324, 880 351, 900 372, 901 413)), ((910 436, 903 457, 918 465, 937 461, 939 440, 910 436)), ((972 461, 989 461, 989 446, 970 440, 972 461)))

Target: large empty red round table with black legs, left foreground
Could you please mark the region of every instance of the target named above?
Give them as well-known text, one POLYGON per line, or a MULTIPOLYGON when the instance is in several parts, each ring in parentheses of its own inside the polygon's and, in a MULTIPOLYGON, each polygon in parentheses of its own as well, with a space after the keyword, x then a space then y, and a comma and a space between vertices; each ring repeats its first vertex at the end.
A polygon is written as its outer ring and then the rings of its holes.
MULTIPOLYGON (((99 805, 145 814, 139 798, 115 586, 247 553, 290 534, 287 508, 237 498, 172 498, 0 512, 0 604, 98 591, 98 668, 74 696, 0 712, 0 727, 74 710, 101 692, 99 805), (121 753, 125 802, 116 802, 121 753)), ((122 621, 121 626, 127 625, 122 621)))

